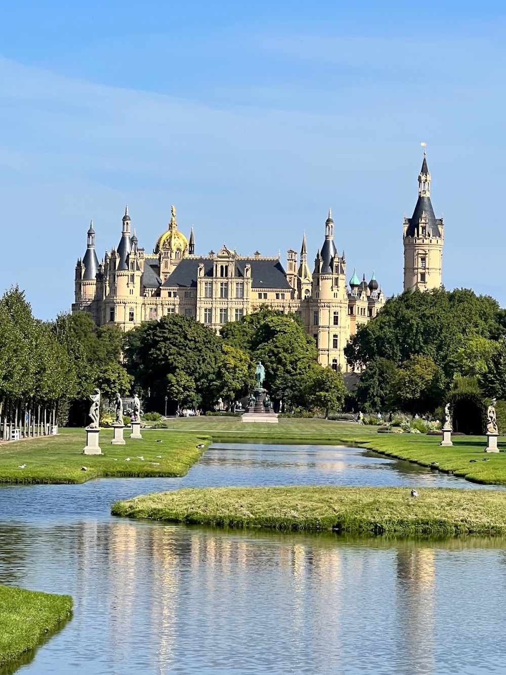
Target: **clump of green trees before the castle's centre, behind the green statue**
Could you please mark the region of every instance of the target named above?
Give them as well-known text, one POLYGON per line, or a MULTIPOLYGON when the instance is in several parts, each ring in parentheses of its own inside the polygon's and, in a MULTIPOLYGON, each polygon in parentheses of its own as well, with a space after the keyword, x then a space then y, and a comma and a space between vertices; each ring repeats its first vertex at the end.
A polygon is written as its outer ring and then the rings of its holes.
POLYGON ((267 307, 241 321, 227 323, 221 335, 180 315, 143 323, 125 335, 125 361, 149 403, 161 410, 165 396, 173 407, 210 408, 219 397, 229 401, 254 387, 261 360, 264 386, 275 405, 289 409, 340 410, 345 387, 340 373, 322 368, 316 346, 296 315, 267 307))

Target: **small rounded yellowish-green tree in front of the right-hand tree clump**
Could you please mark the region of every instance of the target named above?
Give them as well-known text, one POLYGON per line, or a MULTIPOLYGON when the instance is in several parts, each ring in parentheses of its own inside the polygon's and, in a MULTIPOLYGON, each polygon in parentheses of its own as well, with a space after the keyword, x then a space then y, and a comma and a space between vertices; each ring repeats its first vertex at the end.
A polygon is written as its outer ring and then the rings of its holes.
POLYGON ((432 358, 418 354, 397 370, 390 402, 413 414, 435 410, 443 400, 446 384, 443 372, 432 358))

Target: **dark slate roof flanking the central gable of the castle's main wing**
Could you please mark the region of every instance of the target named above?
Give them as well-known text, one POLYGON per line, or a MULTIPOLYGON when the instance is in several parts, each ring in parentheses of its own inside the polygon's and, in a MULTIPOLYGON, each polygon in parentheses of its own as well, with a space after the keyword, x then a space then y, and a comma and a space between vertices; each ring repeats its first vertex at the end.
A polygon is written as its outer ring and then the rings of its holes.
MULTIPOLYGON (((226 264, 226 263, 225 263, 226 264)), ((229 263, 230 264, 230 263, 229 263)), ((208 258, 184 258, 163 286, 195 287, 198 265, 204 265, 204 277, 213 278, 214 261, 208 258)), ((251 266, 252 288, 291 288, 279 260, 235 259, 235 276, 244 277, 244 266, 251 266)))

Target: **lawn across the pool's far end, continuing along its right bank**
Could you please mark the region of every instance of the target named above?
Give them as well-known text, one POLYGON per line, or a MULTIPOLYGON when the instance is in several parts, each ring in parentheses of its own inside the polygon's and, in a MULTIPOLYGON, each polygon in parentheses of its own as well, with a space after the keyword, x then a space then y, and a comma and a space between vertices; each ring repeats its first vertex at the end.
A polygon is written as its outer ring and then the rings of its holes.
MULTIPOLYGON (((484 436, 455 436, 453 447, 441 448, 441 436, 424 434, 381 434, 377 427, 322 419, 279 418, 277 425, 246 425, 235 418, 179 418, 169 423, 173 431, 194 433, 205 429, 213 441, 264 443, 309 443, 358 445, 386 456, 433 466, 443 472, 474 483, 506 485, 506 452, 484 454, 484 436), (247 427, 244 429, 244 427, 247 427), (258 427, 251 429, 250 427, 258 427), (488 460, 483 462, 482 460, 488 460)), ((167 432, 165 432, 167 433, 167 432)), ((506 437, 499 438, 499 448, 506 450, 506 437)))

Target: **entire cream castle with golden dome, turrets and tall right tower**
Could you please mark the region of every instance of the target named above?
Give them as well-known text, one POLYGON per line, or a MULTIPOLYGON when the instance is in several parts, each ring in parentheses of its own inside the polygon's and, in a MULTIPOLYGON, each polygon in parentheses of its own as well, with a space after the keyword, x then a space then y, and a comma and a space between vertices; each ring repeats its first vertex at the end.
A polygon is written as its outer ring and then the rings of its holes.
MULTIPOLYGON (((443 219, 436 219, 430 202, 430 173, 426 156, 418 176, 418 201, 404 220, 404 288, 441 286, 443 219)), ((287 252, 286 269, 279 257, 256 251, 241 256, 225 244, 206 256, 195 254, 193 226, 188 240, 177 227, 172 207, 169 227, 152 254, 138 245, 128 207, 117 248, 99 263, 95 232, 88 229, 88 246, 78 260, 72 312, 90 313, 97 325, 117 323, 124 331, 142 321, 166 315, 192 317, 218 331, 227 321, 239 321, 262 305, 298 315, 316 342, 324 366, 347 371, 343 350, 357 328, 376 316, 385 296, 372 273, 362 281, 354 271, 347 283, 345 254, 337 253, 334 221, 329 209, 325 240, 311 272, 306 234, 300 258, 287 252)))

